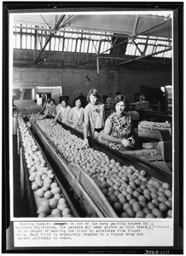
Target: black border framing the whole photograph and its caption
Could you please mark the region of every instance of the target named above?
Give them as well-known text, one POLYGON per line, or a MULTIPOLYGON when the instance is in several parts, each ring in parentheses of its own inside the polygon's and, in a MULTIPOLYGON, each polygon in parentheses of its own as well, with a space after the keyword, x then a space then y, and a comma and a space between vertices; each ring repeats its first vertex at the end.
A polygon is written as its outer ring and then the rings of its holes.
MULTIPOLYGON (((12 247, 14 230, 6 236, 11 226, 9 209, 9 13, 24 9, 48 9, 54 11, 95 11, 122 10, 172 10, 173 11, 173 44, 174 44, 174 246, 170 253, 183 253, 183 3, 163 2, 3 2, 3 150, 2 150, 2 252, 3 253, 144 253, 145 249, 165 250, 165 247, 32 247, 30 250, 12 247), (62 9, 61 9, 62 8, 62 9), (80 10, 80 9, 81 10, 80 10), (76 9, 76 10, 74 10, 76 9), (177 172, 177 173, 176 173, 177 172), (8 242, 9 240, 9 242, 8 242), (9 243, 9 249, 7 245, 9 243)), ((11 117, 10 117, 11 118, 11 117)))

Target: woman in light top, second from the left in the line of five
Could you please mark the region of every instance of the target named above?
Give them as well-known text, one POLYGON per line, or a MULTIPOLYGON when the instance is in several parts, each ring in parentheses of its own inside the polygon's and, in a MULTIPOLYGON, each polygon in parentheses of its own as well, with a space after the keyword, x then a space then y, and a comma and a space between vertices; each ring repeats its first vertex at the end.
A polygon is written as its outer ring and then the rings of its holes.
POLYGON ((55 119, 54 119, 54 124, 58 118, 61 118, 61 122, 66 123, 68 120, 68 115, 69 115, 70 110, 71 110, 71 108, 70 108, 70 106, 68 106, 67 99, 65 97, 62 98, 61 106, 60 106, 60 108, 58 108, 57 115, 55 116, 55 119))

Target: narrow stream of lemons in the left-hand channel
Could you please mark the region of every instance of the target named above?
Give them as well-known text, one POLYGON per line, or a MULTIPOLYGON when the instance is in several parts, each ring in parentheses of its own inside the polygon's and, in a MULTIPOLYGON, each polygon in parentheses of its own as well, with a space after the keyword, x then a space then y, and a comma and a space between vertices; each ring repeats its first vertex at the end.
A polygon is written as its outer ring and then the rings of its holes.
POLYGON ((25 151, 26 164, 30 174, 29 180, 32 183, 32 190, 42 201, 37 211, 38 218, 73 217, 67 201, 55 180, 54 171, 50 170, 47 166, 42 152, 38 150, 38 145, 35 143, 24 120, 19 116, 18 124, 25 151), (66 212, 62 212, 58 208, 59 201, 65 203, 66 212))

